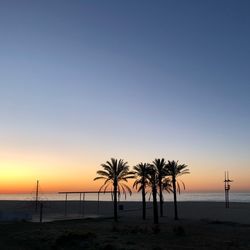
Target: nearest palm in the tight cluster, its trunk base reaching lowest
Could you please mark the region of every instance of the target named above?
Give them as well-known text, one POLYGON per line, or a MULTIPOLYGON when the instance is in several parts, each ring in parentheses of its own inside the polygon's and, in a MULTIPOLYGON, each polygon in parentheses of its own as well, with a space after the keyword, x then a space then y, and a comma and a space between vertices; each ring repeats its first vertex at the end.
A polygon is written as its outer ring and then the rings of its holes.
POLYGON ((152 195, 153 195, 153 213, 154 213, 154 223, 158 224, 158 204, 157 204, 157 183, 158 183, 158 178, 157 178, 157 170, 154 167, 154 165, 150 165, 148 168, 148 181, 149 181, 149 186, 151 187, 152 190, 152 195))

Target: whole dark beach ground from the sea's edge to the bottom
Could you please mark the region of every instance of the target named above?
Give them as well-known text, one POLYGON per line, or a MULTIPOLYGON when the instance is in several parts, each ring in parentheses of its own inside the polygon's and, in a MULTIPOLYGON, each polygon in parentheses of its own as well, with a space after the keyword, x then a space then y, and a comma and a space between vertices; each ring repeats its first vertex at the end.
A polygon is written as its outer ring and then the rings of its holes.
MULTIPOLYGON (((179 221, 173 220, 173 204, 166 203, 166 216, 153 224, 152 203, 147 219, 141 219, 140 202, 122 202, 119 222, 113 221, 112 202, 44 202, 44 221, 49 223, 1 222, 0 249, 250 249, 250 204, 180 202, 179 221), (85 218, 74 219, 73 218, 85 218), (53 221, 57 220, 57 221, 53 221)), ((34 202, 0 201, 2 213, 32 213, 34 202)))

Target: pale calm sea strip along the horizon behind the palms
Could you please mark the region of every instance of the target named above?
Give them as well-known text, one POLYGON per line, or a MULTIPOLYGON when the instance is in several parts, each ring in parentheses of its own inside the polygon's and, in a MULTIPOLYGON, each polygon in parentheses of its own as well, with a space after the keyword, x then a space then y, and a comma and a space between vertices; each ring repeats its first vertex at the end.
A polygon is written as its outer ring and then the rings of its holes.
MULTIPOLYGON (((79 200, 80 194, 68 194, 68 200, 79 200)), ((97 194, 85 194, 85 200, 89 201, 96 201, 98 199, 97 194)), ((151 199, 149 195, 147 195, 147 199, 151 199)), ((183 192, 178 194, 177 199, 179 201, 215 201, 215 202, 223 202, 225 200, 224 192, 213 192, 213 193, 195 193, 195 192, 183 192)), ((32 201, 35 200, 35 194, 1 194, 0 193, 0 200, 19 200, 19 201, 32 201)), ((41 193, 39 194, 39 200, 65 200, 64 194, 58 193, 41 193)), ((100 194, 101 201, 111 201, 110 194, 100 194)), ((141 201, 141 193, 133 193, 131 196, 127 195, 126 199, 124 195, 120 197, 121 201, 141 201)), ((172 194, 164 194, 165 201, 173 201, 172 194)), ((231 202, 250 202, 250 192, 244 193, 230 193, 230 201, 231 202)))

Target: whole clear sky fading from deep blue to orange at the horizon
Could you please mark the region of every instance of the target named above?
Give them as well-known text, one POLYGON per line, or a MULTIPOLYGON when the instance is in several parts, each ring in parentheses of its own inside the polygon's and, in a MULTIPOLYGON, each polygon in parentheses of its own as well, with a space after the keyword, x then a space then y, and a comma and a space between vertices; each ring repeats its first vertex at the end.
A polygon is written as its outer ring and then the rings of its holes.
POLYGON ((250 190, 250 2, 0 1, 0 193, 98 190, 100 164, 179 160, 250 190))

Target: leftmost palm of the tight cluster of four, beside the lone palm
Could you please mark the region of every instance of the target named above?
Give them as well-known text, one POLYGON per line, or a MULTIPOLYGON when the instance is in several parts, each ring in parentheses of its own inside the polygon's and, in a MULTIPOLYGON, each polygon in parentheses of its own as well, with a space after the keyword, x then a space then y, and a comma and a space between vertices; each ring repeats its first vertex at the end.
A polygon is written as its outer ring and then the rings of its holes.
POLYGON ((135 187, 138 192, 142 192, 142 219, 146 219, 146 187, 148 185, 148 169, 150 164, 148 163, 139 163, 134 166, 135 178, 133 187, 135 187), (139 187, 138 187, 139 186, 139 187))

